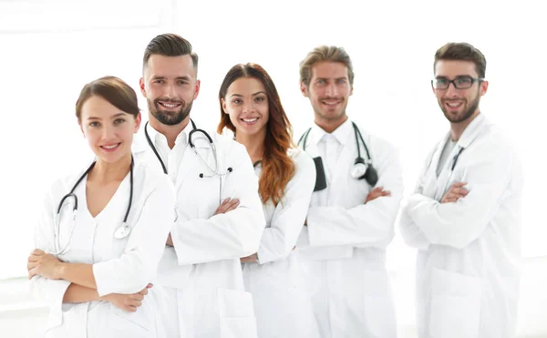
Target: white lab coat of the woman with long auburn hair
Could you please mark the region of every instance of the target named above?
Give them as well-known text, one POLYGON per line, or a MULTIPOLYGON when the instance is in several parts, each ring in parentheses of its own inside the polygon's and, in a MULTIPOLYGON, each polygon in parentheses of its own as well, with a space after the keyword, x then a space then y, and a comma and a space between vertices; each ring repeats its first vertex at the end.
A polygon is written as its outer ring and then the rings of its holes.
MULTIPOLYGON (((317 323, 304 274, 293 251, 304 226, 315 185, 314 160, 301 150, 291 150, 294 177, 277 206, 263 205, 266 229, 258 250, 259 263, 243 263, 245 290, 253 294, 260 338, 317 338, 317 323)), ((262 166, 255 168, 260 177, 262 166)))

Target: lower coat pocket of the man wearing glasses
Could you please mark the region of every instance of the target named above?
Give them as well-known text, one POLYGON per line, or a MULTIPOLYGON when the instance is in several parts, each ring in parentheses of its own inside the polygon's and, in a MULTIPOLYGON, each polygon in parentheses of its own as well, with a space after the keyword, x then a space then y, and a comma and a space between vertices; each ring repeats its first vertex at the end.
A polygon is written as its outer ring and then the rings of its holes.
POLYGON ((481 296, 480 278, 434 269, 428 337, 478 338, 481 296))

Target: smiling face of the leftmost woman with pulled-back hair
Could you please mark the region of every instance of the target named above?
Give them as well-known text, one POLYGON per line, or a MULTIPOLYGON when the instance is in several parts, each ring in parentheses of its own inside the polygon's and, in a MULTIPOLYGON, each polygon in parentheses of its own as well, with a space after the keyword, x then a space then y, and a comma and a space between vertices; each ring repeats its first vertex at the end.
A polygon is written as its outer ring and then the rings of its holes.
POLYGON ((79 125, 97 158, 115 163, 131 153, 133 134, 139 131, 140 113, 134 118, 103 97, 91 96, 82 105, 79 125))

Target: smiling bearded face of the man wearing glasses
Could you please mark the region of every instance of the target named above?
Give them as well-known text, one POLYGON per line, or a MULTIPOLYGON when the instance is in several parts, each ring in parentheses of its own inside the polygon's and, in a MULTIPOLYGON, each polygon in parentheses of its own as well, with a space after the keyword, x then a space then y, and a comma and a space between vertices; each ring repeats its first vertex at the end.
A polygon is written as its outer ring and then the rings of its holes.
MULTIPOLYGON (((471 61, 439 60, 435 65, 435 80, 477 79, 479 75, 471 61)), ((472 86, 464 89, 449 84, 446 89, 433 89, 439 107, 450 123, 461 123, 479 114, 480 97, 486 94, 487 81, 474 80, 472 86)))

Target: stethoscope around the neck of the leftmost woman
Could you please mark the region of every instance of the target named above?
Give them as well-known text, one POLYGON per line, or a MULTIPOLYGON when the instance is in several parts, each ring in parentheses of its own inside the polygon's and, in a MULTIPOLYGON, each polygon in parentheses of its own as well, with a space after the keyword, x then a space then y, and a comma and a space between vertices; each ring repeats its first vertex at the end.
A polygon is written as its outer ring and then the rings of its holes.
MULTIPOLYGON (((56 252, 51 252, 54 255, 63 255, 66 254, 69 249, 70 241, 72 240, 72 234, 74 233, 74 228, 76 227, 76 214, 77 214, 77 196, 74 193, 74 190, 76 190, 77 186, 80 184, 80 182, 88 176, 89 171, 95 167, 95 164, 97 161, 93 161, 89 168, 82 174, 82 176, 77 179, 76 183, 70 189, 70 192, 67 193, 67 195, 63 196, 61 201, 59 202, 59 205, 57 207, 57 214, 55 216, 55 222, 56 222, 56 228, 55 228, 55 244, 56 244, 56 252), (72 208, 72 227, 70 229, 70 233, 68 235, 67 243, 63 248, 61 248, 60 243, 60 227, 61 227, 61 218, 60 218, 60 212, 63 208, 63 203, 65 200, 68 200, 72 198, 74 200, 74 207, 72 208)), ((129 235, 131 232, 131 227, 128 225, 128 217, 129 217, 129 211, 131 210, 131 203, 133 201, 133 167, 135 166, 135 163, 133 161, 133 156, 131 156, 131 167, 129 169, 129 204, 128 208, 126 210, 125 216, 123 218, 123 222, 121 223, 121 226, 119 226, 118 229, 114 231, 114 237, 117 239, 123 239, 129 235)))

